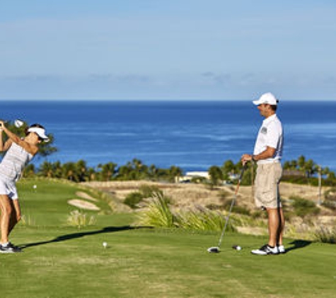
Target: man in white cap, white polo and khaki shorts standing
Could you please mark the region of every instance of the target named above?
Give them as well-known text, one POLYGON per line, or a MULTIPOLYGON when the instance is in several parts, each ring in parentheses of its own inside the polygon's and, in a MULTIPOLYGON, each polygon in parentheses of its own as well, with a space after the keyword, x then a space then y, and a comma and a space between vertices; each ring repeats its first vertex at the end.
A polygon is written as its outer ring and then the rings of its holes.
POLYGON ((262 117, 262 121, 253 155, 243 154, 241 162, 257 163, 255 177, 255 204, 267 210, 269 240, 252 254, 268 255, 283 254, 282 233, 284 230, 284 213, 279 197, 279 181, 282 177, 282 146, 284 142, 282 123, 277 117, 278 100, 272 93, 263 94, 259 100, 254 100, 262 117))

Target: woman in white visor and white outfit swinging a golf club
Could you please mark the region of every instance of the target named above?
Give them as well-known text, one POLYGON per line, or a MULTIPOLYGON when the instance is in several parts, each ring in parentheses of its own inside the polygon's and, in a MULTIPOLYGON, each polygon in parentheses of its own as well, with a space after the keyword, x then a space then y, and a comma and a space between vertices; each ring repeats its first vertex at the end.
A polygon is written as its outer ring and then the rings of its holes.
POLYGON ((47 139, 45 128, 40 124, 30 126, 26 130, 25 138, 20 138, 6 128, 4 121, 0 121, 0 151, 6 151, 0 163, 0 253, 21 251, 8 240, 11 230, 21 219, 16 181, 21 177, 25 165, 37 153, 37 144, 47 139), (8 136, 6 143, 3 140, 3 131, 8 136))

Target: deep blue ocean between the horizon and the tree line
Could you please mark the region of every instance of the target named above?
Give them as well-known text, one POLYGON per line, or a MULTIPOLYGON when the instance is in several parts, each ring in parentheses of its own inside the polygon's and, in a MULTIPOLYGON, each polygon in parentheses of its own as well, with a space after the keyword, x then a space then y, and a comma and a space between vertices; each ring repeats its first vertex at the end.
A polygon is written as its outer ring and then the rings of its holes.
MULTIPOLYGON (((0 119, 40 123, 57 153, 36 157, 90 167, 134 158, 146 165, 203 171, 252 153, 262 117, 250 101, 4 101, 0 119)), ((336 170, 336 102, 283 101, 283 161, 300 155, 336 170)))

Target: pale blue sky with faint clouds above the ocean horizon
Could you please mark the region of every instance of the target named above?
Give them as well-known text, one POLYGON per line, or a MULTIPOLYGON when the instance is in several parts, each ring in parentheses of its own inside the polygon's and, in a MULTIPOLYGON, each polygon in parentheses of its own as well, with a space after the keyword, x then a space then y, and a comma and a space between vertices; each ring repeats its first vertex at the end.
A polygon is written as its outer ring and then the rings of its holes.
POLYGON ((336 100, 334 0, 0 7, 0 100, 336 100))

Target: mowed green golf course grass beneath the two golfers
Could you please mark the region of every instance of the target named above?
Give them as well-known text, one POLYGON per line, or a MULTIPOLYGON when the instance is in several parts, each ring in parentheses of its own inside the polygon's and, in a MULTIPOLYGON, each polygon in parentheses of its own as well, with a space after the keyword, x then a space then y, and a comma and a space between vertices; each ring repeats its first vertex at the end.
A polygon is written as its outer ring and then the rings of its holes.
POLYGON ((1 297, 335 297, 335 245, 286 239, 287 254, 253 256, 265 237, 226 234, 209 254, 219 234, 133 227, 132 214, 86 212, 95 225, 69 227, 75 184, 23 181, 19 191, 30 220, 11 237, 23 253, 0 255, 1 297))

